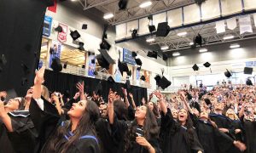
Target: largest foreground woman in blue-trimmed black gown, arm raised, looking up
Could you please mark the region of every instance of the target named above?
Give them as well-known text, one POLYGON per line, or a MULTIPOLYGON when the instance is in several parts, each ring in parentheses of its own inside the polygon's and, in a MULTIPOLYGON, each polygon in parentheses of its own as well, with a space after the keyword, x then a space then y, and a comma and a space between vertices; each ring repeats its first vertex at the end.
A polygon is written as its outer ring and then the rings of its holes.
POLYGON ((67 114, 70 121, 61 122, 55 106, 41 97, 41 84, 44 82, 42 67, 34 82, 34 92, 30 105, 32 122, 38 130, 40 152, 100 152, 96 137, 95 122, 99 110, 95 102, 80 100, 74 103, 67 114))

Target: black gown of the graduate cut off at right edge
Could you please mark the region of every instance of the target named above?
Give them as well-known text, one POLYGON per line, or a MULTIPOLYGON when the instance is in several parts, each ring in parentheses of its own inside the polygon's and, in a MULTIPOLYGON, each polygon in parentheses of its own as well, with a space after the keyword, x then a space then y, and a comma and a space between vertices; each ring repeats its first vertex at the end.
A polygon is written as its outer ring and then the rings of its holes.
MULTIPOLYGON (((241 120, 243 121, 243 119, 241 120)), ((245 144, 247 145, 247 153, 256 153, 256 122, 243 121, 245 131, 245 144)))

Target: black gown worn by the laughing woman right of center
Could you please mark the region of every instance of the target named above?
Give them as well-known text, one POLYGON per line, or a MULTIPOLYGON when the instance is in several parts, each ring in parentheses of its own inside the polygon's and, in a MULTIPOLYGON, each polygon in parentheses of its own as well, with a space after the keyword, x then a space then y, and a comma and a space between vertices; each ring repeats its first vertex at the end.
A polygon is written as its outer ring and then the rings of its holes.
POLYGON ((170 109, 167 109, 166 116, 161 112, 161 119, 160 148, 163 153, 191 153, 203 150, 194 129, 194 141, 188 142, 187 128, 174 121, 170 109))

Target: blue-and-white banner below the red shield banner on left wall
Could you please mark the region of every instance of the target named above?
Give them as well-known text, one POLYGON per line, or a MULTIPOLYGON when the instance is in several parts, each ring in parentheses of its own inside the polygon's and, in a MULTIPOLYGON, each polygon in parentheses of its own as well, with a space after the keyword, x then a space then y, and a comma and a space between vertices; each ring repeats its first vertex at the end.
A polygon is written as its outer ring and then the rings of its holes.
POLYGON ((52 41, 52 45, 49 48, 49 67, 52 63, 52 59, 58 58, 61 59, 61 42, 52 41))

